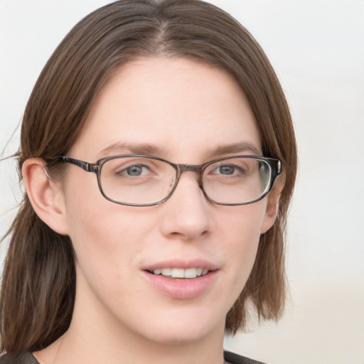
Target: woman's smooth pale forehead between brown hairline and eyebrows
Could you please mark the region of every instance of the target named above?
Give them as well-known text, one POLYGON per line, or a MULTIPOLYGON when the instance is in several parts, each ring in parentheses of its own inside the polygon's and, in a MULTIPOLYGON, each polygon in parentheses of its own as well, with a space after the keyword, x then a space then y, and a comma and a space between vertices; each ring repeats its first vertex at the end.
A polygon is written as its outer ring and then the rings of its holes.
POLYGON ((72 151, 95 160, 140 144, 176 160, 244 143, 261 149, 250 107, 227 73, 182 58, 141 58, 105 85, 72 151))

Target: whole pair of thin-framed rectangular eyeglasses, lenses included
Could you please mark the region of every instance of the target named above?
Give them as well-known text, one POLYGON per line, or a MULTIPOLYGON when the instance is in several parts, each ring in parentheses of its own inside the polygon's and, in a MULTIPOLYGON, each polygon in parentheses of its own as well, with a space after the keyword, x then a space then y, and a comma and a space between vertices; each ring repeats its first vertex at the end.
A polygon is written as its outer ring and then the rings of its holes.
POLYGON ((121 205, 164 203, 183 172, 198 174, 205 197, 218 205, 246 205, 264 198, 282 172, 281 161, 262 156, 228 156, 198 166, 155 156, 107 156, 95 164, 60 156, 60 161, 96 173, 102 196, 121 205))

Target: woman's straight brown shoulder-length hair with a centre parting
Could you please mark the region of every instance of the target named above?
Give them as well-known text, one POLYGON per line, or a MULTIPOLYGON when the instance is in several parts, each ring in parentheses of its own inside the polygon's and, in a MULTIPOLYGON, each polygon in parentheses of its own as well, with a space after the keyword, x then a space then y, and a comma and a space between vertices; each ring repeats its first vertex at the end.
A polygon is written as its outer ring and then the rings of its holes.
MULTIPOLYGON (((284 230, 297 165, 294 130, 266 55, 221 9, 199 0, 122 0, 77 23, 46 63, 28 100, 16 154, 19 171, 28 158, 49 163, 67 154, 107 80, 140 57, 188 58, 225 70, 249 102, 264 156, 282 161, 284 188, 277 220, 260 237, 254 267, 228 312, 225 328, 227 333, 244 328, 251 304, 259 319, 279 319, 287 286, 284 230)), ((41 350, 65 333, 72 319, 76 280, 72 242, 38 218, 26 193, 8 235, 1 350, 41 350)))

